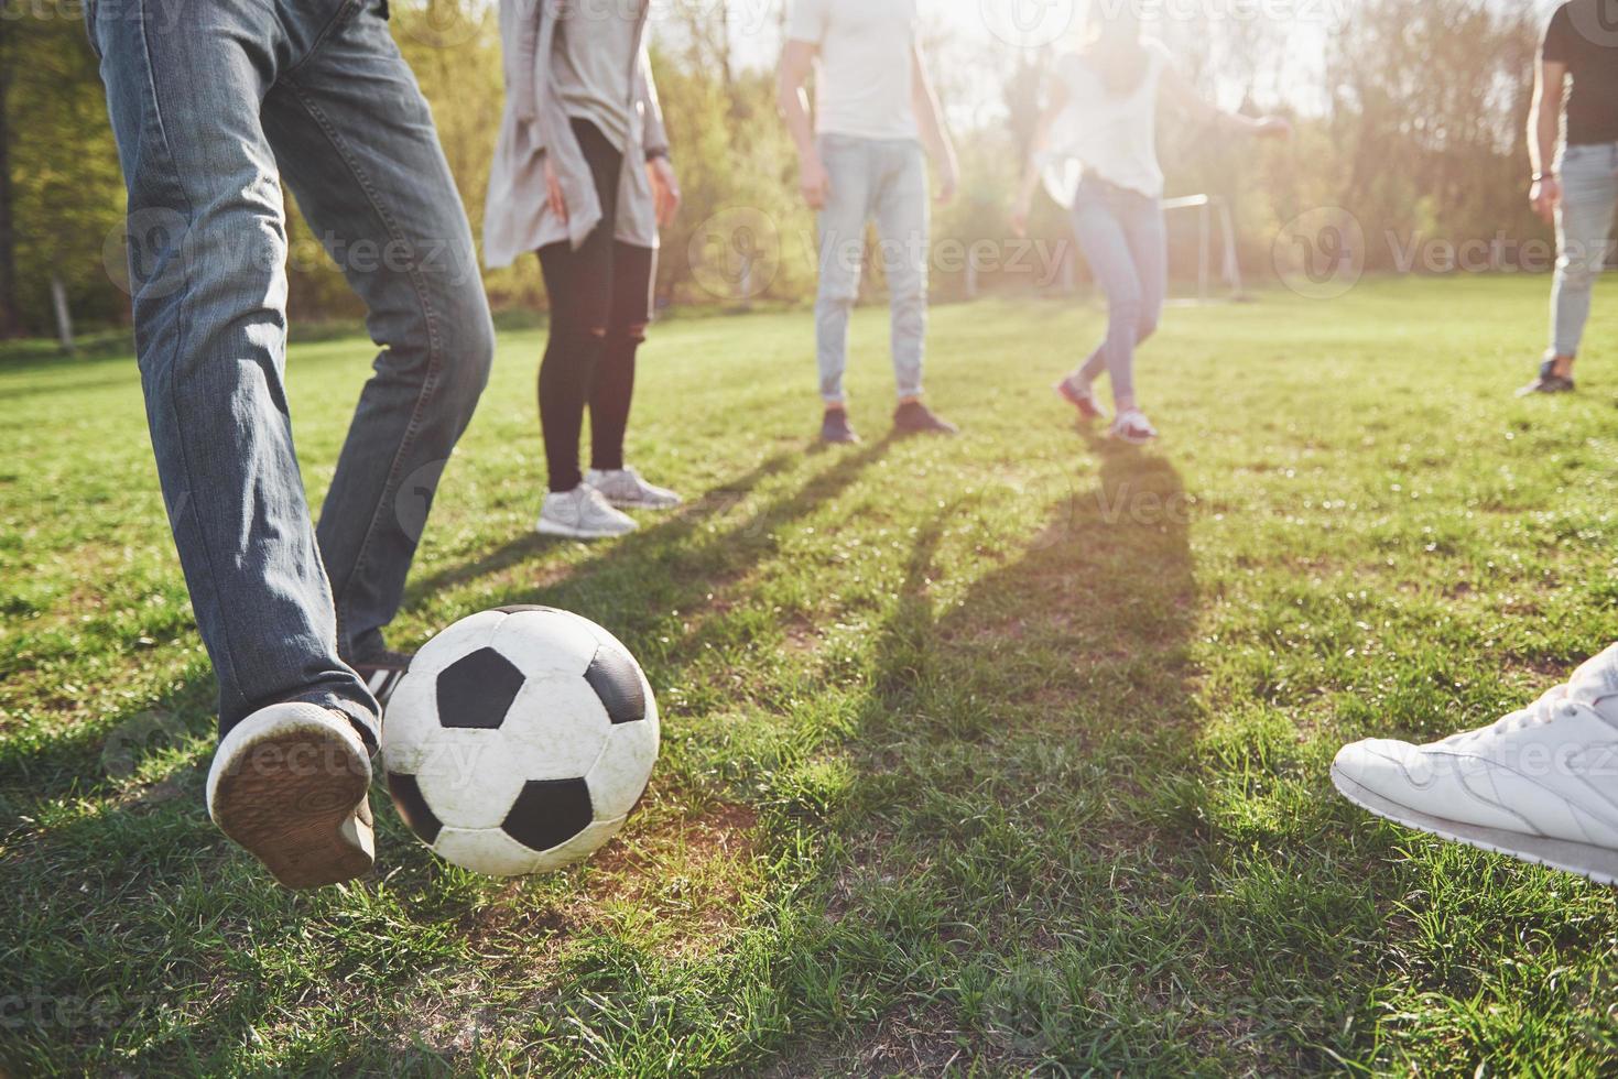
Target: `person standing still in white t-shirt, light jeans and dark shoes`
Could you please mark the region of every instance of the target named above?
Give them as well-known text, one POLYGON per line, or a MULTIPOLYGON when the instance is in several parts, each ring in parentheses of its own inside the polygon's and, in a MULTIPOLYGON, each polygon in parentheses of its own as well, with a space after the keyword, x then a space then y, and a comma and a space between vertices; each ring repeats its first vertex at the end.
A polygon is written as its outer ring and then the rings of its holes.
POLYGON ((804 201, 819 212, 815 336, 824 442, 859 442, 843 370, 859 296, 866 226, 882 238, 893 306, 895 430, 955 434, 922 403, 927 336, 927 162, 938 199, 955 196, 955 147, 916 42, 916 0, 794 0, 781 57, 780 105, 798 144, 804 201), (804 84, 815 71, 811 120, 804 84))

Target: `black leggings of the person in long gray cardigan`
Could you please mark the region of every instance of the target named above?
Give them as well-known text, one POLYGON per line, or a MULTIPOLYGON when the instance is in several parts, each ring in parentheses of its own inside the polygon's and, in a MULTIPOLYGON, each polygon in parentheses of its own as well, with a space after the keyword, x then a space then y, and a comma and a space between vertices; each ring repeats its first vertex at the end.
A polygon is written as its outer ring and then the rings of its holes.
POLYGON ((613 238, 623 154, 595 125, 573 121, 573 134, 595 180, 602 222, 574 249, 540 248, 550 296, 550 341, 539 366, 539 425, 545 437, 550 490, 582 482, 579 435, 591 406, 591 468, 623 468, 623 432, 634 395, 634 354, 652 317, 650 248, 613 238))

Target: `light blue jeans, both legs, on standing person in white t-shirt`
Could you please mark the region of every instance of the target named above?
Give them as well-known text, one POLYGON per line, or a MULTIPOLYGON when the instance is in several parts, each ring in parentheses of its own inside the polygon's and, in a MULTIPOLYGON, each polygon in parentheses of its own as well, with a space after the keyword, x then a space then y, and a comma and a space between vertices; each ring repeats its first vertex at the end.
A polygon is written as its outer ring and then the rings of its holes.
POLYGON ((859 298, 866 226, 877 222, 882 269, 893 307, 893 379, 900 396, 921 395, 927 341, 929 191, 927 155, 913 139, 820 136, 832 194, 820 210, 820 293, 815 346, 820 398, 843 403, 848 319, 859 298))

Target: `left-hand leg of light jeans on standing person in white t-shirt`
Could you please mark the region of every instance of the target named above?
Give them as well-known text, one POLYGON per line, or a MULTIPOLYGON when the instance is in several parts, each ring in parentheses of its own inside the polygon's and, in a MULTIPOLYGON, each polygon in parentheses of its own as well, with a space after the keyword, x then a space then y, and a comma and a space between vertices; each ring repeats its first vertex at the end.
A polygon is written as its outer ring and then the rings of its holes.
POLYGON ((820 369, 820 400, 841 404, 843 372, 848 369, 848 320, 859 299, 859 278, 866 252, 866 223, 870 220, 870 146, 864 139, 827 136, 820 160, 832 176, 832 193, 820 209, 820 286, 815 294, 815 354, 820 369))

